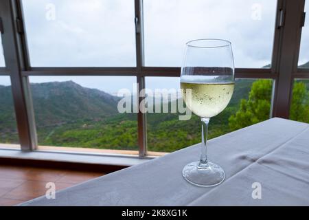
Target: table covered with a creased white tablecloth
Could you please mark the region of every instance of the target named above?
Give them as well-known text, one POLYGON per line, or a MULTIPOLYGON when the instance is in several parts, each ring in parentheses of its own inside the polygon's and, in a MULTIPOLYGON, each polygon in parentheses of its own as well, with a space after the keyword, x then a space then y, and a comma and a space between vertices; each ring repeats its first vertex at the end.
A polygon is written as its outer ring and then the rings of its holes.
POLYGON ((216 187, 183 179, 199 154, 196 144, 21 206, 309 206, 309 124, 272 118, 209 140, 226 174, 216 187))

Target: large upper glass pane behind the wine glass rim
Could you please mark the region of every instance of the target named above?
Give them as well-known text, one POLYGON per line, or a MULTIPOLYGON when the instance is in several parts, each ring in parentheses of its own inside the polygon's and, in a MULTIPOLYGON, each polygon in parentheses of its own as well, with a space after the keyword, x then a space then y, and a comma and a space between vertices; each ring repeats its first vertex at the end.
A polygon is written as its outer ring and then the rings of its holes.
POLYGON ((227 39, 236 67, 269 67, 275 0, 145 0, 146 66, 181 66, 192 39, 227 39))

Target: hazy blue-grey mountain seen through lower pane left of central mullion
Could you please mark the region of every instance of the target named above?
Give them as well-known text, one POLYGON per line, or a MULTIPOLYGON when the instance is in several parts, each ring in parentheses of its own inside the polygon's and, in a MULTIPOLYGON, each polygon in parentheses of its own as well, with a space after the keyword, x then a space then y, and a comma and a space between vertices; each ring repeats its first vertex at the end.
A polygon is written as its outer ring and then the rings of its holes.
POLYGON ((117 113, 119 98, 73 81, 31 84, 37 126, 100 120, 117 113))

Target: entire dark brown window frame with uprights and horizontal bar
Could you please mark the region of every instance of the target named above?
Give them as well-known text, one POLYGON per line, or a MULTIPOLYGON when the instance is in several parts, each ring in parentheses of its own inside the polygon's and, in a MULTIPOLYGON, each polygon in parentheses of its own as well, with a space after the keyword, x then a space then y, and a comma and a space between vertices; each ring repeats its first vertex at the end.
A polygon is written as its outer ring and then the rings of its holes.
MULTIPOLYGON (((304 3, 305 0, 293 3, 288 0, 277 0, 270 69, 235 69, 236 78, 274 80, 271 118, 289 117, 294 79, 309 78, 309 69, 297 68, 304 3), (292 46, 289 45, 290 41, 294 42, 292 46), (289 58, 288 62, 284 60, 285 58, 289 58)), ((5 30, 1 34, 6 63, 6 67, 0 67, 0 75, 11 78, 17 128, 23 151, 35 151, 38 146, 29 76, 136 76, 139 84, 138 92, 146 87, 147 76, 180 76, 180 67, 144 65, 143 0, 135 0, 136 67, 31 67, 21 0, 0 1, 0 17, 5 30)), ((141 100, 140 97, 139 103, 141 100)), ((137 126, 139 157, 148 157, 146 113, 141 111, 137 113, 137 126)))

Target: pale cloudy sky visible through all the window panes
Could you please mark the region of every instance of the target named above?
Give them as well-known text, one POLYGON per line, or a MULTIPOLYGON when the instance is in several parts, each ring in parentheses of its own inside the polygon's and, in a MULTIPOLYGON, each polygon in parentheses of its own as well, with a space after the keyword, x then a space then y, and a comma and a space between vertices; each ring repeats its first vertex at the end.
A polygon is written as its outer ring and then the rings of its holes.
MULTIPOLYGON (((23 0, 33 67, 134 67, 134 0, 23 0)), ((306 9, 308 4, 306 4, 306 9)), ((144 0, 146 66, 179 67, 192 39, 231 41, 236 67, 271 63, 275 0, 144 0)), ((308 10, 309 11, 309 10, 308 10)), ((308 17, 306 19, 307 23, 308 17)), ((299 63, 309 57, 308 24, 299 63)), ((4 65, 2 53, 0 67, 4 65)), ((87 73, 85 73, 87 74, 87 73)), ((31 83, 73 80, 115 93, 135 77, 32 76, 31 83)), ((0 77, 0 84, 10 80, 0 77)), ((146 78, 146 87, 179 87, 179 78, 146 78)))

